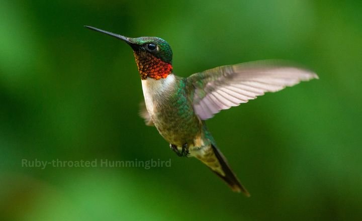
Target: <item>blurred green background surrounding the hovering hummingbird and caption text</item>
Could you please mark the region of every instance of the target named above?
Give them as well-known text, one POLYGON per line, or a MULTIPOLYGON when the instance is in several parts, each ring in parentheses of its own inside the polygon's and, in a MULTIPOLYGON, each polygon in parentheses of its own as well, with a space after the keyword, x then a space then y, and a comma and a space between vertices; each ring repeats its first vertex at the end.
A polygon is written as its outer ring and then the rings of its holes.
POLYGON ((361 21, 361 1, 2 0, 0 220, 359 219, 361 21), (144 125, 132 50, 83 25, 164 38, 181 76, 278 58, 320 79, 208 121, 246 198, 144 125), (41 169, 22 159, 171 167, 41 169))

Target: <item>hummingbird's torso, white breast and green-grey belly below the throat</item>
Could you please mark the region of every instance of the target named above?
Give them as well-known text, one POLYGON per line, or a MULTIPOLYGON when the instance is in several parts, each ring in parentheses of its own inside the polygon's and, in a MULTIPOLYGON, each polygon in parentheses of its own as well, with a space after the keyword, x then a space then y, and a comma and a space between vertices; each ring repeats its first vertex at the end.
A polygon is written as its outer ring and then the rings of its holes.
POLYGON ((147 111, 160 135, 170 144, 182 147, 193 143, 202 133, 202 123, 195 115, 184 88, 172 75, 160 80, 143 80, 147 111))

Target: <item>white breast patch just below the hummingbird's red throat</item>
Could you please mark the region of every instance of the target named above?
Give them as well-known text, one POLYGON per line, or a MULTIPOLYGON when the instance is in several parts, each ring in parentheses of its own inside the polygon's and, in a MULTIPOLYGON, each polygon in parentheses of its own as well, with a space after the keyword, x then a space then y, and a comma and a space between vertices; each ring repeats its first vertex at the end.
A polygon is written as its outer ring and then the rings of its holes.
POLYGON ((166 78, 161 78, 159 80, 147 78, 146 80, 141 81, 147 111, 150 116, 153 116, 157 111, 156 101, 161 100, 160 98, 162 96, 167 96, 170 89, 174 88, 175 77, 173 74, 170 74, 166 78))

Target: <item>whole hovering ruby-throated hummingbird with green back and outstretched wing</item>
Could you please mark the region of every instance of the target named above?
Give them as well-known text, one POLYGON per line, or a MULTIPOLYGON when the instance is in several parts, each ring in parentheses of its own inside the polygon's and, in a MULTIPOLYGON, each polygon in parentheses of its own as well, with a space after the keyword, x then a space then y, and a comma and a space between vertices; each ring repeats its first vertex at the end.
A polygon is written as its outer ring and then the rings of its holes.
POLYGON ((249 192, 220 152, 205 121, 265 92, 318 79, 312 71, 278 60, 220 66, 180 77, 173 72, 172 50, 165 40, 129 38, 84 27, 113 36, 133 49, 144 95, 140 115, 145 124, 156 127, 177 156, 197 158, 233 191, 246 196, 250 196, 249 192))

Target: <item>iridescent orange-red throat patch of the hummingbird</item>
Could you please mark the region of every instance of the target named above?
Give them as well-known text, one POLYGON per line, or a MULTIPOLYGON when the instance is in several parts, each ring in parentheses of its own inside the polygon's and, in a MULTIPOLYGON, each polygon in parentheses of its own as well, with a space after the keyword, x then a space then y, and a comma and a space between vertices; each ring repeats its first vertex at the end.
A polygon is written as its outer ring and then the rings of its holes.
POLYGON ((160 58, 156 58, 150 53, 137 51, 134 52, 134 56, 142 80, 145 80, 147 77, 159 80, 166 78, 172 73, 171 64, 162 61, 160 58))

